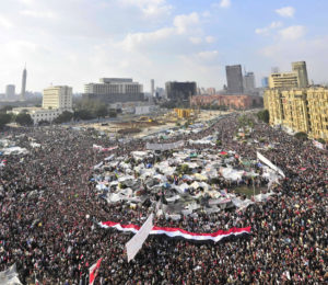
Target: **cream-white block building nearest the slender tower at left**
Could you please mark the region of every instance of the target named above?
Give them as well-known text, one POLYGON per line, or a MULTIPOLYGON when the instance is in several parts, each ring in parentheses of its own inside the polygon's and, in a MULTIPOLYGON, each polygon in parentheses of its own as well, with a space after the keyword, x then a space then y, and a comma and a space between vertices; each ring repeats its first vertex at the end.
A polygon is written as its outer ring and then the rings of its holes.
POLYGON ((71 87, 49 87, 44 90, 43 109, 72 110, 71 87))

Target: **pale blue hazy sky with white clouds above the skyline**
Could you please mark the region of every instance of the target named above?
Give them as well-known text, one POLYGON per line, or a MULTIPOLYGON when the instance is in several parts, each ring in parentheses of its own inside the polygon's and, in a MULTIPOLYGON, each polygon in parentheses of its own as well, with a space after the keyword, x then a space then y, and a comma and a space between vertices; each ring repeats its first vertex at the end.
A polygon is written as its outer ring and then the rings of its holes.
POLYGON ((150 90, 169 80, 222 88, 225 65, 258 83, 272 66, 306 60, 328 81, 327 0, 2 0, 0 92, 132 77, 150 90))

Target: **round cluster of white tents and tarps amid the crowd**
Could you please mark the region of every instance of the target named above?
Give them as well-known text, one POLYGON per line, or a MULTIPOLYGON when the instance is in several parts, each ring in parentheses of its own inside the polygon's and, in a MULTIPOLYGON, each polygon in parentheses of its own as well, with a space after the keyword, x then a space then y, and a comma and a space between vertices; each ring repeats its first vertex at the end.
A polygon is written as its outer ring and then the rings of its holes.
MULTIPOLYGON (((211 142, 213 137, 199 139, 211 142)), ((195 141, 192 141, 194 144, 195 141)), ((190 146, 190 145, 188 145, 190 146)), ((161 206, 157 215, 173 219, 197 215, 197 212, 218 213, 225 208, 245 208, 254 202, 268 200, 273 192, 259 194, 255 200, 243 197, 220 187, 220 180, 236 185, 258 180, 262 186, 278 183, 279 175, 257 161, 247 166, 235 151, 201 150, 181 144, 153 144, 154 150, 131 151, 126 156, 112 155, 94 167, 91 179, 102 198, 110 204, 126 202, 130 207, 161 206), (176 149, 178 148, 178 149, 176 149), (165 149, 164 152, 157 152, 165 149)), ((192 146, 191 146, 192 147, 192 146)))

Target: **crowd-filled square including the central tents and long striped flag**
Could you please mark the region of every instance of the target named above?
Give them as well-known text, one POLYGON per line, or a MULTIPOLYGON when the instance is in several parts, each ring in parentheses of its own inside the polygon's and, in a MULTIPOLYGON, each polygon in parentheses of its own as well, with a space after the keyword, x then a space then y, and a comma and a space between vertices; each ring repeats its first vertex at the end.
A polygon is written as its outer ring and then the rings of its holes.
POLYGON ((89 284, 102 259, 94 284, 327 282, 327 151, 251 112, 213 114, 133 136, 1 133, 0 277, 15 264, 22 284, 89 284))

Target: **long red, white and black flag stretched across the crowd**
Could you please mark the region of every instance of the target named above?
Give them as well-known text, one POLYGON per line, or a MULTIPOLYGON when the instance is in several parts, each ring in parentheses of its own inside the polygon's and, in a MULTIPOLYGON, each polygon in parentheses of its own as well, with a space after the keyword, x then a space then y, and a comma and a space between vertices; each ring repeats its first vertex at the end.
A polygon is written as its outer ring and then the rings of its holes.
MULTIPOLYGON (((137 233, 140 229, 137 225, 120 225, 119 223, 114 221, 102 221, 99 226, 103 228, 115 228, 119 231, 129 231, 137 233)), ((229 230, 218 230, 215 232, 190 232, 180 228, 166 228, 166 227, 156 227, 154 226, 150 235, 166 235, 169 238, 183 238, 186 240, 192 241, 214 241, 218 242, 224 238, 232 236, 241 236, 244 233, 250 233, 250 227, 246 228, 231 228, 229 230)))

